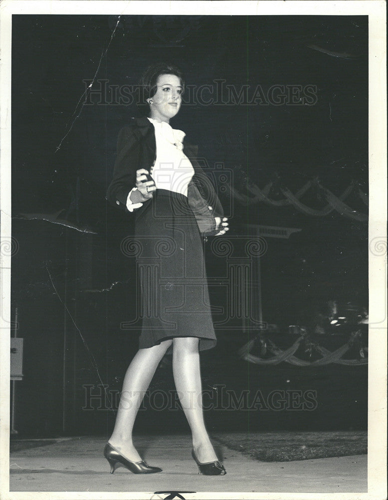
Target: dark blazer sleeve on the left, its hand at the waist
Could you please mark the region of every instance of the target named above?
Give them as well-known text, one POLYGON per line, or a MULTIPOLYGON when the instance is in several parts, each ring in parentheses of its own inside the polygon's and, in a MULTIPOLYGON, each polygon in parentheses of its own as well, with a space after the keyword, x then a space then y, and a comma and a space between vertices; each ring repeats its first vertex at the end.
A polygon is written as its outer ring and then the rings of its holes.
POLYGON ((129 126, 121 128, 117 138, 113 178, 106 193, 112 205, 126 208, 128 194, 136 183, 139 155, 140 136, 136 133, 136 129, 129 126))

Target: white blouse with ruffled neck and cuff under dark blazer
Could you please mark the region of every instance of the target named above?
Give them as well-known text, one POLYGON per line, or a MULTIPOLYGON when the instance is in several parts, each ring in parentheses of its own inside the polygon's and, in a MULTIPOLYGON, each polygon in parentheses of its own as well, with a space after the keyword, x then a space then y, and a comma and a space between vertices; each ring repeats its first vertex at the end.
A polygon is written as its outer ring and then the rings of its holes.
MULTIPOLYGON (((172 128, 166 121, 148 118, 155 128, 156 160, 150 169, 150 175, 157 189, 167 189, 187 196, 187 187, 194 175, 194 168, 189 158, 183 152, 185 132, 172 128)), ((137 189, 134 187, 132 190, 137 189)), ((132 203, 129 192, 127 208, 142 206, 143 203, 132 203)))

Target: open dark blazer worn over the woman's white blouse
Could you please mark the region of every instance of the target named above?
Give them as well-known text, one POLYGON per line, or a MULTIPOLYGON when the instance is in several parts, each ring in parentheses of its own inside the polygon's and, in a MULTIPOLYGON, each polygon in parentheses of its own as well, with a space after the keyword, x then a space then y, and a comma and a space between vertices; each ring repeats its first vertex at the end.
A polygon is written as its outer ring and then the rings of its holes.
MULTIPOLYGON (((223 217, 223 209, 210 182, 203 172, 196 156, 198 147, 184 142, 183 152, 190 159, 194 168, 187 197, 190 208, 197 219, 200 231, 203 234, 216 232, 214 217, 223 217), (209 205, 212 210, 209 210, 209 205)), ((145 168, 150 170, 156 160, 155 128, 147 117, 131 118, 129 125, 121 128, 117 139, 117 156, 114 164, 113 179, 108 187, 108 201, 125 209, 129 191, 136 185, 136 170, 145 168)), ((133 211, 136 216, 146 208, 149 201, 133 211)))

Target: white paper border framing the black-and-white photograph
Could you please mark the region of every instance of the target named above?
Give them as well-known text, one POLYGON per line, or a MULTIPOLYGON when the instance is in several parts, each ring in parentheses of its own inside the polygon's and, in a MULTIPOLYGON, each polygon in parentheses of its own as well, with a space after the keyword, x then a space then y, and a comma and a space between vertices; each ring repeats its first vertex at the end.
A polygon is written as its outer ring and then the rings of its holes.
MULTIPOLYGON (((0 203, 1 242, 11 237, 11 16, 12 14, 204 14, 204 15, 368 15, 369 16, 369 396, 368 493, 201 492, 187 498, 352 500, 387 497, 387 53, 386 2, 343 1, 72 1, 0 2, 0 203), (376 245, 383 251, 374 251, 376 245), (384 252, 385 248, 385 252, 384 252)), ((4 500, 140 498, 151 492, 9 492, 9 325, 10 255, 1 257, 0 497, 4 500)))

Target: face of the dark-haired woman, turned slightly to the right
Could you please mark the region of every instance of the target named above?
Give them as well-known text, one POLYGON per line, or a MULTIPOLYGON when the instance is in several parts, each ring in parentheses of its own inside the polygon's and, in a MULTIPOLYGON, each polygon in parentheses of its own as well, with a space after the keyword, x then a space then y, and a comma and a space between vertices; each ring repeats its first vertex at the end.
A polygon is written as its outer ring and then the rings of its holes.
POLYGON ((183 87, 175 74, 160 74, 156 82, 157 90, 151 97, 151 118, 167 121, 179 111, 183 87))

